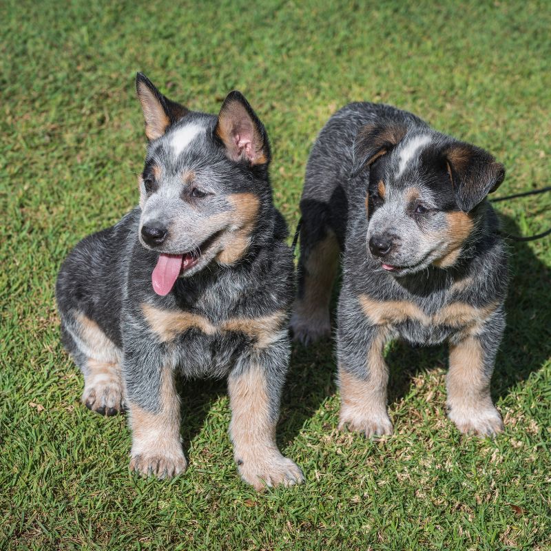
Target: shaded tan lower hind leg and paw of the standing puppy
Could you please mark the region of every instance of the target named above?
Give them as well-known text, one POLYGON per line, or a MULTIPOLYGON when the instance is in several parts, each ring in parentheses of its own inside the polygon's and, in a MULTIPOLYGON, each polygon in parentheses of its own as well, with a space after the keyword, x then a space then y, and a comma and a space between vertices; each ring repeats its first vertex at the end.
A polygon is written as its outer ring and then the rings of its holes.
POLYGON ((293 306, 294 337, 304 344, 331 334, 329 302, 338 265, 337 238, 333 231, 328 231, 304 262, 303 293, 293 306))

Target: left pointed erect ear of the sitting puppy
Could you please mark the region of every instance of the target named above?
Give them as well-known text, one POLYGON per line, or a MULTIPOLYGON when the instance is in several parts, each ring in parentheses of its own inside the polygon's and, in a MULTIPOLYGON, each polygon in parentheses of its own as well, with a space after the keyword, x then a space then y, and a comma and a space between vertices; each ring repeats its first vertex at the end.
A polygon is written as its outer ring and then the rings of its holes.
POLYGON ((136 92, 145 118, 145 135, 148 140, 160 138, 189 111, 179 103, 163 96, 143 73, 136 74, 136 92))

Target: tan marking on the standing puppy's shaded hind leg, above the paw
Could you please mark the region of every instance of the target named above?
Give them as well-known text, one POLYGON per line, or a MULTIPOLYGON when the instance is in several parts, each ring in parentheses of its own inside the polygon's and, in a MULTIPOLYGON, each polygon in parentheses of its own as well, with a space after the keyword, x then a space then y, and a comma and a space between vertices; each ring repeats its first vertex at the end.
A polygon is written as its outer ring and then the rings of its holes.
MULTIPOLYGON (((304 287, 302 298, 295 302, 295 314, 308 320, 325 319, 329 312, 329 301, 333 281, 339 264, 339 244, 333 231, 316 243, 304 262, 304 287)), ((329 322, 329 319, 327 320, 329 322)))

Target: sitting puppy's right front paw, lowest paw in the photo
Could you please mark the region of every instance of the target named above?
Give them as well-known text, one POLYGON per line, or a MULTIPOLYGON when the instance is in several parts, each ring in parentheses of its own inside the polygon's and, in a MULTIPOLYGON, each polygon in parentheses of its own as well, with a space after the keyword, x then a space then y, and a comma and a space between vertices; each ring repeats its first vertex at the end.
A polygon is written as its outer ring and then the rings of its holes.
POLYGON ((304 482, 300 467, 280 453, 260 459, 237 459, 237 464, 241 478, 255 490, 262 490, 265 486, 293 486, 304 482))

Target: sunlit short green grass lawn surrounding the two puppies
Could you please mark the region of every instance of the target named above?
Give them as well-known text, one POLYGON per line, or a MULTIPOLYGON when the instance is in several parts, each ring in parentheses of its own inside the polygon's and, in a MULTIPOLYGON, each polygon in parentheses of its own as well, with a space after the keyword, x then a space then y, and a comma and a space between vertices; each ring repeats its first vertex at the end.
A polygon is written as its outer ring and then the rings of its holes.
MULTIPOLYGON (((183 388, 185 475, 130 475, 125 419, 80 404, 54 304, 70 248, 137 201, 136 71, 195 110, 245 93, 291 227, 315 135, 353 100, 490 149, 506 194, 549 183, 549 3, 176 4, 0 4, 0 548, 551 549, 549 238, 511 246, 493 379, 503 435, 460 437, 444 411, 444 349, 400 344, 388 351, 395 435, 338 433, 333 344, 297 346, 278 439, 306 484, 260 494, 233 465, 223 382, 183 388)), ((497 207, 510 231, 550 223, 550 198, 497 207)))

